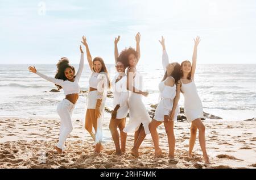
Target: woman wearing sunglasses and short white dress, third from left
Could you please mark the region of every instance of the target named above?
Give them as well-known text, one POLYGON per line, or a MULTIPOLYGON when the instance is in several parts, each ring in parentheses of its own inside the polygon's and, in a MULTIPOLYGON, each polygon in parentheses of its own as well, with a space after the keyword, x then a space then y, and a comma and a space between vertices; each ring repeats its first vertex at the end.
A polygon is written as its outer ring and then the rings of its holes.
POLYGON ((113 107, 114 110, 112 112, 112 117, 109 123, 109 129, 112 134, 112 138, 115 144, 115 154, 122 155, 125 152, 126 146, 126 137, 127 133, 123 132, 123 128, 125 128, 126 116, 128 114, 128 103, 127 99, 129 97, 129 93, 126 89, 126 74, 125 74, 125 65, 119 61, 119 53, 117 48, 117 43, 120 39, 120 36, 115 38, 114 41, 114 55, 115 55, 115 68, 117 69, 117 74, 112 80, 111 86, 113 89, 113 107), (117 127, 120 131, 120 136, 117 131, 117 127), (119 137, 121 139, 121 148, 119 143, 119 137))

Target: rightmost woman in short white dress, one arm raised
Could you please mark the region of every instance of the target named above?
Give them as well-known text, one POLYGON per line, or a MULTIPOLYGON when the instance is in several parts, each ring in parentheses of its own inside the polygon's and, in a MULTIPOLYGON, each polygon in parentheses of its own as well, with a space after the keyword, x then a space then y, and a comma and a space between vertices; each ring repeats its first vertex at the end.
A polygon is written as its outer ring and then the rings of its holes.
MULTIPOLYGON (((199 36, 194 39, 194 51, 192 57, 192 65, 189 61, 183 61, 181 63, 181 93, 184 95, 184 112, 187 116, 188 122, 191 122, 191 136, 189 139, 189 150, 188 156, 193 158, 192 150, 196 141, 196 131, 199 129, 199 143, 203 152, 205 163, 209 163, 209 157, 206 150, 205 143, 205 126, 201 122, 201 118, 204 117, 203 106, 199 95, 197 94, 196 85, 194 82, 195 72, 196 72, 196 58, 197 58, 197 46, 200 43, 199 36)), ((179 95, 178 95, 179 96, 179 95)), ((174 108, 177 101, 174 102, 174 108)), ((172 110, 174 111, 174 109, 172 110)), ((174 112, 171 113, 174 116, 174 112)))

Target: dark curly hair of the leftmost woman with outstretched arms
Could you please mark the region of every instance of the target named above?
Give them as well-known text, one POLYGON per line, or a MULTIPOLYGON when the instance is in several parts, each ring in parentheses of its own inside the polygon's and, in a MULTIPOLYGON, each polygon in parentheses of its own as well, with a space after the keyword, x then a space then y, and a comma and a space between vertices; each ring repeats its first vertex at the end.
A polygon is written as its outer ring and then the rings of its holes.
MULTIPOLYGON (((73 70, 73 73, 75 74, 75 68, 71 65, 69 65, 69 61, 67 57, 61 57, 61 59, 59 60, 59 62, 56 64, 57 66, 57 72, 55 74, 55 78, 56 79, 63 79, 63 81, 67 80, 67 77, 65 76, 65 69, 67 68, 71 68, 73 70)), ((74 76, 75 78, 76 76, 74 76)), ((58 90, 62 89, 62 87, 60 85, 56 85, 58 90)))

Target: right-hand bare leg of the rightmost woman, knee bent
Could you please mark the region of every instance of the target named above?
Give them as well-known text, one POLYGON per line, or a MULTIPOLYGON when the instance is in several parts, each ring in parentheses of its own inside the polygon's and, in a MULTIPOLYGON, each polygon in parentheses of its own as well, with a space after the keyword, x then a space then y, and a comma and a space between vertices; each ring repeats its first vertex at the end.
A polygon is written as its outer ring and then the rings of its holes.
POLYGON ((206 142, 205 142, 205 126, 201 119, 193 120, 192 124, 194 124, 199 130, 199 143, 203 152, 205 163, 209 164, 209 157, 206 150, 206 142))

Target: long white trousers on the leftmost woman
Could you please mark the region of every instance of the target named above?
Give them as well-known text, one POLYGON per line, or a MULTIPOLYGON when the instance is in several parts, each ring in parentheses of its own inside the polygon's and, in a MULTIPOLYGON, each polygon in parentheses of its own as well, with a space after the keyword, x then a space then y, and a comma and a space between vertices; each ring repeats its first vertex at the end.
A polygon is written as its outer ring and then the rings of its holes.
POLYGON ((68 135, 73 130, 73 125, 71 121, 72 111, 75 108, 75 104, 68 101, 68 99, 63 99, 57 106, 57 112, 60 116, 60 137, 57 147, 64 151, 65 149, 65 140, 68 138, 68 135))

